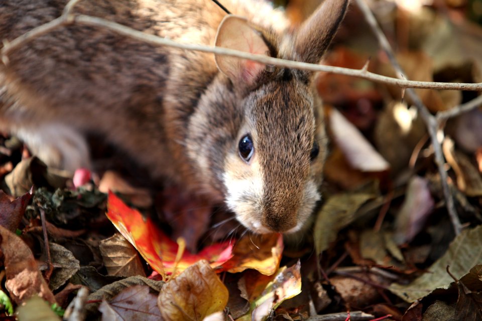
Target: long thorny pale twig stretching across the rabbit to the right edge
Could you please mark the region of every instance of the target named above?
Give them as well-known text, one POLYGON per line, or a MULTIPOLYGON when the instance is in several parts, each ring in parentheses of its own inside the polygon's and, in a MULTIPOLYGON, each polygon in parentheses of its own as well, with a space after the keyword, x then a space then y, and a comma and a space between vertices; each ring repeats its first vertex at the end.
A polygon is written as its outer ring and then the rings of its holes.
MULTIPOLYGON (((73 1, 77 2, 77 0, 73 0, 73 1)), ((70 3, 67 6, 69 5, 70 3)), ((254 55, 251 53, 227 49, 227 48, 211 47, 211 46, 199 45, 199 44, 179 43, 171 39, 146 34, 144 32, 137 31, 132 28, 123 26, 121 24, 107 21, 105 19, 85 16, 85 15, 71 15, 70 14, 71 9, 72 9, 72 6, 69 6, 68 10, 65 10, 64 14, 62 14, 62 16, 60 16, 59 18, 52 20, 51 22, 45 25, 34 28, 33 30, 14 39, 12 42, 5 42, 4 48, 2 48, 2 50, 0 51, 0 55, 2 57, 2 61, 4 62, 4 64, 8 64, 8 54, 10 52, 21 47, 22 45, 25 45, 27 42, 43 34, 46 34, 56 28, 60 28, 62 26, 69 25, 72 23, 77 23, 80 25, 97 26, 97 27, 105 28, 105 29, 114 31, 118 34, 128 36, 137 40, 141 40, 143 42, 146 42, 152 45, 162 45, 162 46, 174 47, 174 48, 179 48, 184 50, 201 51, 201 52, 207 52, 207 53, 214 53, 217 55, 250 59, 252 61, 257 61, 266 65, 275 65, 279 67, 296 68, 296 69, 302 69, 302 70, 308 70, 308 71, 326 72, 326 73, 334 73, 334 74, 340 74, 340 75, 346 75, 346 76, 352 76, 352 77, 359 77, 359 78, 371 80, 374 82, 396 85, 396 86, 399 86, 400 88, 482 91, 482 83, 468 84, 468 83, 410 81, 406 79, 396 79, 392 77, 374 74, 372 72, 367 71, 366 68, 349 69, 349 68, 342 68, 342 67, 309 64, 304 62, 268 57, 265 55, 254 55)))

